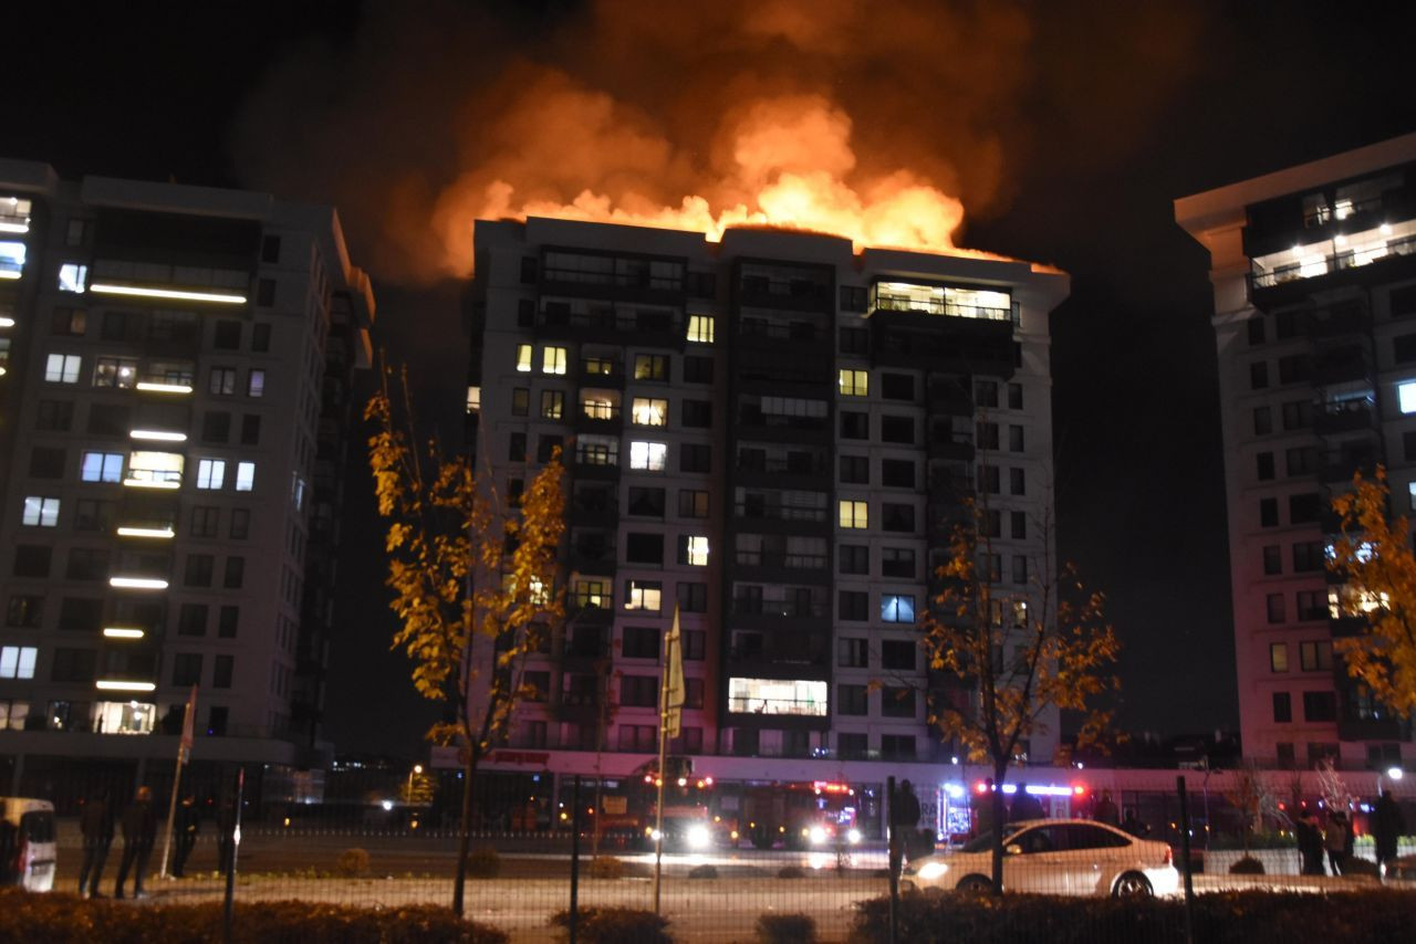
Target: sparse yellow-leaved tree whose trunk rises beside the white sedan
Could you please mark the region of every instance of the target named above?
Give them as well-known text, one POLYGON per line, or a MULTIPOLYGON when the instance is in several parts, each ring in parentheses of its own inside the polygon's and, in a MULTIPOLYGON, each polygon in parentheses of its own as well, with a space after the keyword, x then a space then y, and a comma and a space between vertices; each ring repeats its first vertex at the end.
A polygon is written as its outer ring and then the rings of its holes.
MULTIPOLYGON (((1052 566, 1051 518, 1039 522, 1046 551, 1021 590, 998 586, 987 507, 964 501, 942 585, 925 616, 923 645, 935 672, 953 677, 953 698, 930 699, 929 720, 973 763, 993 769, 993 889, 1003 892, 1003 787, 1022 742, 1044 730, 1052 706, 1082 713, 1076 747, 1100 746, 1112 713, 1096 699, 1119 689, 1120 654, 1104 597, 1086 590, 1068 565, 1052 566)), ((946 693, 947 695, 947 693, 946 693)))

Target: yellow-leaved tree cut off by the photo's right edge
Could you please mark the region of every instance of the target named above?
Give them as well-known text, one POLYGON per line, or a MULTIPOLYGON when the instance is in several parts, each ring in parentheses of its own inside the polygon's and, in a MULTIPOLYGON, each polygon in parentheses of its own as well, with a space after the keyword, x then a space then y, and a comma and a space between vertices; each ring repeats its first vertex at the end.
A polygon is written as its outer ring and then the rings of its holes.
POLYGON ((1409 522, 1388 518, 1386 470, 1352 477, 1352 491, 1332 500, 1341 535, 1328 570, 1342 576, 1337 614, 1365 617, 1332 648, 1347 672, 1398 716, 1416 710, 1416 555, 1409 522))

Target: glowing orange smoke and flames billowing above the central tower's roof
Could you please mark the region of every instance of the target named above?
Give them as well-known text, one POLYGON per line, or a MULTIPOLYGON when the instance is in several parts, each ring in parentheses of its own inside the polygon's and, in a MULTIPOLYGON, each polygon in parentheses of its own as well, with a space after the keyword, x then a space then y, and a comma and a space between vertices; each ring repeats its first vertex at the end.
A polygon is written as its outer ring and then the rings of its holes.
POLYGON ((1124 151, 1184 69, 1178 16, 1065 6, 1078 44, 1059 51, 1039 34, 1048 7, 983 1, 603 0, 528 17, 371 0, 346 42, 270 71, 235 157, 249 185, 337 205, 358 258, 411 283, 467 275, 474 219, 527 214, 947 249, 964 208, 1005 208, 1027 163, 1124 151), (1136 74, 1119 84, 1097 50, 1136 74), (1113 112, 1124 126, 1097 117, 1113 112))

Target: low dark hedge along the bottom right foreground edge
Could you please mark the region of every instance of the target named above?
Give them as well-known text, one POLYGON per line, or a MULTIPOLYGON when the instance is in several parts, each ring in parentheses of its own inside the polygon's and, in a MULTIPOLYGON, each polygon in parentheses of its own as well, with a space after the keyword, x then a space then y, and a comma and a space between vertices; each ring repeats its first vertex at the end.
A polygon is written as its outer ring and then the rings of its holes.
MULTIPOLYGON (((1206 944, 1385 941, 1410 936, 1416 902, 1409 892, 1372 889, 1301 894, 1235 892, 1195 899, 1195 940, 1206 944)), ((857 904, 848 940, 884 944, 889 899, 857 904)), ((899 940, 910 944, 970 941, 1178 941, 1182 899, 1068 899, 1048 894, 966 896, 926 892, 901 897, 899 940)))

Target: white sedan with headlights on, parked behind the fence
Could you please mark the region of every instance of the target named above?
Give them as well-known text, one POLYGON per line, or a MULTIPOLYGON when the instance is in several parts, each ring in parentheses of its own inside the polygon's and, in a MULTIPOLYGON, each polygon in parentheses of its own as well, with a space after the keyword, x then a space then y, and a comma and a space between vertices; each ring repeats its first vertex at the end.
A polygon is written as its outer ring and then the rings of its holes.
MULTIPOLYGON (((1003 887, 1039 894, 1175 894, 1180 873, 1165 842, 1137 839, 1090 819, 1028 819, 1003 832, 1003 887)), ((959 852, 916 859, 915 883, 993 889, 993 834, 959 852)))

